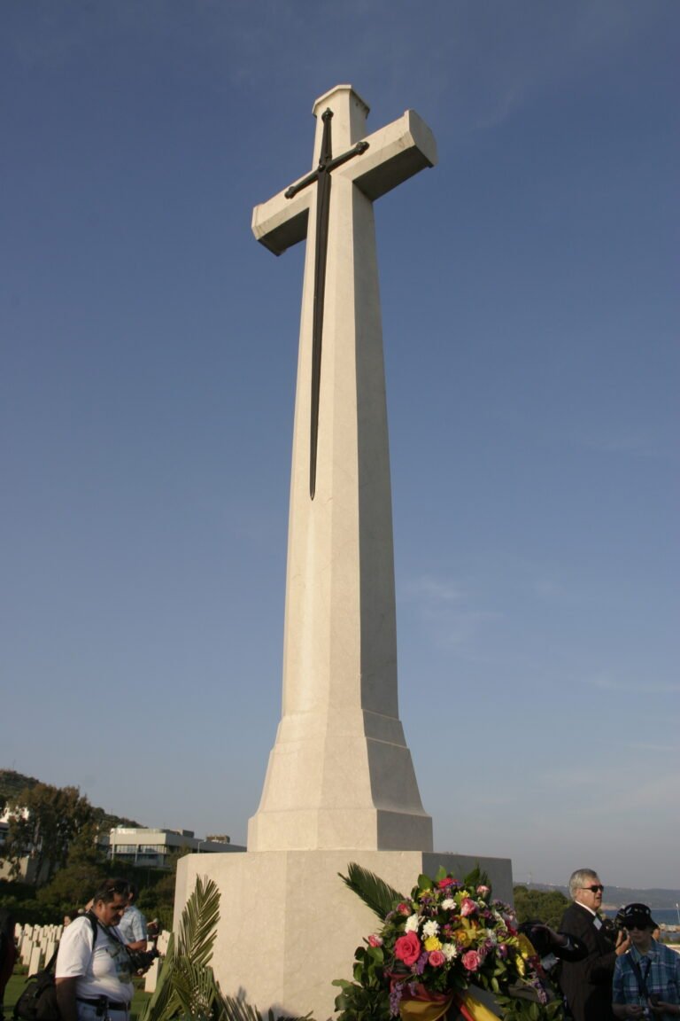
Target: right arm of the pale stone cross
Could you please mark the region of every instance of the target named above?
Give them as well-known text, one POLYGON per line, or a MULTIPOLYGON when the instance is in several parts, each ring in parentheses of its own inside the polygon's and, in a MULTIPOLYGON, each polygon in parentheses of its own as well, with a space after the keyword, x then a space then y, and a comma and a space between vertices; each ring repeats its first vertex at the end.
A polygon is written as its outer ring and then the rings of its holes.
POLYGON ((415 110, 366 138, 367 151, 337 174, 349 175, 371 201, 426 166, 436 164, 436 142, 415 110))

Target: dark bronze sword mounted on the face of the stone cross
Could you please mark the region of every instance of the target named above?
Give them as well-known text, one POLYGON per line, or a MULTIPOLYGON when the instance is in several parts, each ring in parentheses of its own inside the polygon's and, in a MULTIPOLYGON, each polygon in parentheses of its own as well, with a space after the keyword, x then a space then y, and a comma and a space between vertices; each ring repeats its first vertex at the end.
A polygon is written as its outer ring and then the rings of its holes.
POLYGON ((314 499, 316 491, 316 449, 319 434, 319 391, 321 388, 321 340, 323 336, 323 298, 326 286, 326 255, 328 252, 328 221, 330 216, 330 174, 353 156, 359 156, 368 149, 368 142, 357 142, 342 156, 332 156, 330 121, 332 110, 327 109, 321 116, 323 135, 321 153, 315 171, 291 185, 285 198, 294 198, 303 188, 315 182, 318 185, 316 202, 316 247, 314 255, 314 313, 312 317, 312 410, 309 444, 309 496, 314 499))

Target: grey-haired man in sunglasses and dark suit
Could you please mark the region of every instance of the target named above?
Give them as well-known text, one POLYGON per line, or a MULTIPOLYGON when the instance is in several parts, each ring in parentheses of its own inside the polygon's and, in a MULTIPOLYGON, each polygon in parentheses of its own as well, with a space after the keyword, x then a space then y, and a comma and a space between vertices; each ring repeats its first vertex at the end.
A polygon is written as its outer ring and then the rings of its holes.
POLYGON ((574 903, 562 916, 560 929, 582 940, 588 951, 582 961, 564 961, 561 966, 560 985, 574 1021, 613 1021, 614 965, 630 946, 624 933, 615 942, 597 914, 604 889, 592 869, 577 869, 569 880, 574 903))

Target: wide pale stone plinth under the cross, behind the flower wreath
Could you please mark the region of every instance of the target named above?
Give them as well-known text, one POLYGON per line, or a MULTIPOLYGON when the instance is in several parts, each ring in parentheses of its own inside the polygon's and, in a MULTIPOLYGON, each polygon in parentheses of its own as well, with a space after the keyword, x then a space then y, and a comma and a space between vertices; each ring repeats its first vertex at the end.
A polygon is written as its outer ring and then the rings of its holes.
POLYGON ((478 863, 493 895, 512 902, 510 859, 416 850, 268 850, 241 855, 188 855, 177 865, 174 929, 197 876, 220 890, 212 965, 222 993, 242 998, 260 1014, 315 1021, 333 1015, 334 978, 352 978, 354 952, 379 927, 377 917, 349 890, 356 862, 405 894, 420 873, 440 865, 457 878, 478 863))

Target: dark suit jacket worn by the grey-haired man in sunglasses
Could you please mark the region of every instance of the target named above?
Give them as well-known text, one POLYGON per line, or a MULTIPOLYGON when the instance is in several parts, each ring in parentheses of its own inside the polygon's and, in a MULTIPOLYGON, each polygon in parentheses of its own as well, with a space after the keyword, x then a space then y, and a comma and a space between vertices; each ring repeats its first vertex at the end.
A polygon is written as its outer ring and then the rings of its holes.
POLYGON ((611 1021, 612 977, 616 964, 614 942, 595 917, 580 904, 572 904, 562 916, 561 932, 581 939, 588 949, 582 961, 563 961, 560 985, 575 1021, 611 1021))

